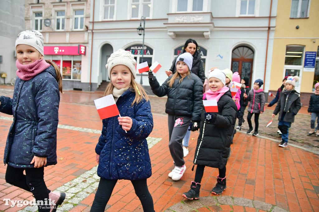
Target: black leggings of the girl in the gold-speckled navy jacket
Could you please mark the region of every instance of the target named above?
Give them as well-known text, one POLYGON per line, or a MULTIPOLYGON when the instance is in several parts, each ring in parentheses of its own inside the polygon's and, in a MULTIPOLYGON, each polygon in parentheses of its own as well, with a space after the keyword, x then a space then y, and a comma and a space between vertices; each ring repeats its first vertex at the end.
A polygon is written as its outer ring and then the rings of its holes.
MULTIPOLYGON (((100 179, 98 190, 96 191, 94 201, 91 207, 91 212, 104 212, 106 204, 111 197, 112 191, 116 185, 117 180, 100 179)), ((147 188, 147 181, 145 180, 131 180, 135 194, 142 203, 145 212, 153 212, 153 199, 147 188)))

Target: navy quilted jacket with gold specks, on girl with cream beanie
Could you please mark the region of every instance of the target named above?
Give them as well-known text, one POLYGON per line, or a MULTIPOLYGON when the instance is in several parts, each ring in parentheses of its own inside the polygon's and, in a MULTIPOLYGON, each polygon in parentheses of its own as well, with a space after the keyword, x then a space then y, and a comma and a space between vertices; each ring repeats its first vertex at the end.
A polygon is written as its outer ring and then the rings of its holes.
POLYGON ((135 92, 128 89, 116 101, 121 116, 133 120, 127 133, 119 124, 118 116, 102 120, 102 134, 95 152, 100 155, 97 173, 103 179, 142 180, 152 175, 146 141, 153 129, 151 104, 143 99, 132 106, 134 98, 135 92))

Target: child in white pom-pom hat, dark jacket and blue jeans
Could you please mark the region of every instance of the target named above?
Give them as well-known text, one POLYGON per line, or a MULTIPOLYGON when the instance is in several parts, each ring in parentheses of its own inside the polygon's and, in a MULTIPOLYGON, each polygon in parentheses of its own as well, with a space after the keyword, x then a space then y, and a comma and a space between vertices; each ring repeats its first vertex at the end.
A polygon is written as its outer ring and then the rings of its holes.
POLYGON ((274 118, 278 112, 278 129, 281 131, 281 143, 278 146, 286 147, 288 145, 289 127, 295 119, 298 111, 301 108, 300 94, 295 90, 298 76, 289 76, 283 93, 279 97, 277 106, 272 114, 274 118))

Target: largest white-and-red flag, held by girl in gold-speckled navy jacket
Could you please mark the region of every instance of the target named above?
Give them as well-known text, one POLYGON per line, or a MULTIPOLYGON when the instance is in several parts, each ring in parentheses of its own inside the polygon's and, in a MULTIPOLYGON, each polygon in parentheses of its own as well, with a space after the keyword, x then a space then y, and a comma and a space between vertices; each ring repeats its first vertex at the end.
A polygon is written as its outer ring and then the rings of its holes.
POLYGON ((98 113, 100 115, 100 119, 105 119, 113 116, 120 115, 119 110, 115 104, 113 95, 103 96, 102 98, 95 99, 94 104, 98 113))

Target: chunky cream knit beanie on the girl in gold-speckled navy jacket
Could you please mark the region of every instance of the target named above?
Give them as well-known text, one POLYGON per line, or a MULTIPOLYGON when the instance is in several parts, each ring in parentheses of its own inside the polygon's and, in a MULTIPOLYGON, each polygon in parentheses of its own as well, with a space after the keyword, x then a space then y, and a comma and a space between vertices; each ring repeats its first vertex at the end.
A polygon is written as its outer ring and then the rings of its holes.
POLYGON ((108 63, 105 67, 108 69, 108 76, 111 79, 111 70, 114 66, 117 65, 124 65, 127 66, 134 79, 136 78, 136 60, 134 60, 133 54, 130 51, 125 51, 123 49, 119 49, 116 52, 112 53, 111 56, 108 58, 108 63))

